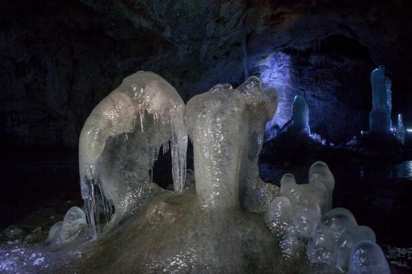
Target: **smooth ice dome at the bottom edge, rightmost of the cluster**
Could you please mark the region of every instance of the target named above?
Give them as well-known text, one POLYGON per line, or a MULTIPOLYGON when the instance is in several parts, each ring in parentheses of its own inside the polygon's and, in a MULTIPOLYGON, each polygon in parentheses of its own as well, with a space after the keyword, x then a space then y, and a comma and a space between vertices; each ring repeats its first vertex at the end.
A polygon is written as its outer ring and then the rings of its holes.
POLYGON ((371 240, 361 240, 350 252, 348 274, 389 274, 382 249, 371 240))

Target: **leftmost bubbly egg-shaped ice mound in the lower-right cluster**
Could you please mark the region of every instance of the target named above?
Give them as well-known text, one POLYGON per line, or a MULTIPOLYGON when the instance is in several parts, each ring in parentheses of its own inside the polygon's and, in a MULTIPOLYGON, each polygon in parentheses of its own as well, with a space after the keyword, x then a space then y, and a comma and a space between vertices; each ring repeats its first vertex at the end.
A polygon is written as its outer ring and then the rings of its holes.
POLYGON ((276 197, 269 204, 266 212, 266 222, 277 236, 283 236, 289 228, 293 216, 293 208, 287 197, 276 197))

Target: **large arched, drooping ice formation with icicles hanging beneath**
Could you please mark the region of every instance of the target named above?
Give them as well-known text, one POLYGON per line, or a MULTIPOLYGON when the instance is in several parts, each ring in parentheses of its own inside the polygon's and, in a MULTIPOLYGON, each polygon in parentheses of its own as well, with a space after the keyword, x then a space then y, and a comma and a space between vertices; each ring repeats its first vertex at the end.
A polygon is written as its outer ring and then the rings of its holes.
MULTIPOLYGON (((174 189, 185 182, 187 134, 185 104, 176 90, 155 73, 138 71, 91 112, 80 134, 82 198, 93 232, 98 234, 99 204, 116 219, 133 212, 157 188, 150 169, 159 148, 172 151, 174 189)), ((110 217, 110 216, 108 216, 110 217)))

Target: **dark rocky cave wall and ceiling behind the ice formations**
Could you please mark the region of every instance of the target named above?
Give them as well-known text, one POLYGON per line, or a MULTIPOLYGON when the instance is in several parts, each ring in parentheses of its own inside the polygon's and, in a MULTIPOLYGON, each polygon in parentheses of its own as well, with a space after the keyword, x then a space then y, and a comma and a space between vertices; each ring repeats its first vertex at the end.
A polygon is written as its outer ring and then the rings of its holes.
POLYGON ((89 112, 135 71, 163 75, 185 101, 217 83, 236 86, 242 33, 249 75, 281 92, 279 123, 300 94, 312 127, 332 140, 367 128, 369 73, 384 64, 393 118, 403 112, 409 125, 411 4, 359 2, 0 3, 1 146, 77 147, 89 112))

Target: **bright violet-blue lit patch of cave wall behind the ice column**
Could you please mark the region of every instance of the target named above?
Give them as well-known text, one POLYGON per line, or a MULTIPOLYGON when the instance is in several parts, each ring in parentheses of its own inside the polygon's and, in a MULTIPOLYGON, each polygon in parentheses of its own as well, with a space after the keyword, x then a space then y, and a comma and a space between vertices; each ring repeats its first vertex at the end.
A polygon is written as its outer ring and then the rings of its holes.
POLYGON ((266 123, 264 140, 275 138, 277 129, 282 127, 292 115, 290 105, 295 97, 295 90, 290 81, 290 55, 276 51, 268 55, 259 65, 260 80, 264 90, 275 88, 279 94, 277 112, 266 123))

